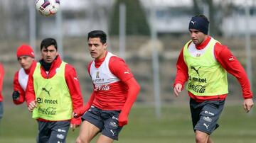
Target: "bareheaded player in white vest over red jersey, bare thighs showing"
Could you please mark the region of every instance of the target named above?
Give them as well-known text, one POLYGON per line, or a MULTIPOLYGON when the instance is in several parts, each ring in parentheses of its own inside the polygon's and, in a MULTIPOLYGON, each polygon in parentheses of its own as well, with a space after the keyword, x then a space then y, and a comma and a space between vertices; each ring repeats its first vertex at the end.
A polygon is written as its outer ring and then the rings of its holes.
POLYGON ((127 125, 140 87, 124 60, 107 52, 107 35, 102 30, 88 33, 87 42, 94 59, 87 67, 94 91, 83 108, 74 110, 75 117, 85 113, 76 142, 90 142, 102 132, 97 142, 109 143, 127 125))

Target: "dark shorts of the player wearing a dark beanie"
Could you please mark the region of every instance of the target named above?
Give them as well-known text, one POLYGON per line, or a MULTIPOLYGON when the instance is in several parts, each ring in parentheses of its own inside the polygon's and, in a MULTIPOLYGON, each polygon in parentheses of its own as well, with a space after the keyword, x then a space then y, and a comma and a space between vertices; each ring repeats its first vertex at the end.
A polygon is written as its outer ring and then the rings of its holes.
POLYGON ((191 118, 193 130, 206 132, 210 135, 219 127, 217 124, 220 114, 223 110, 225 100, 223 101, 204 101, 198 103, 192 98, 190 100, 191 118))

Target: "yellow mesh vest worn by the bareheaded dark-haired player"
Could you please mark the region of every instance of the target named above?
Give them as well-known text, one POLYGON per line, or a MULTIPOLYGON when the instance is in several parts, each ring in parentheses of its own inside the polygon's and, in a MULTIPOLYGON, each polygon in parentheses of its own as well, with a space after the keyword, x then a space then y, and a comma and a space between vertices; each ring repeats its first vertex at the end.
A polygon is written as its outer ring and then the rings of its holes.
POLYGON ((73 112, 68 86, 65 82, 65 62, 56 69, 50 79, 41 76, 41 64, 36 65, 33 73, 33 87, 36 94, 37 108, 32 118, 45 120, 69 120, 73 112))

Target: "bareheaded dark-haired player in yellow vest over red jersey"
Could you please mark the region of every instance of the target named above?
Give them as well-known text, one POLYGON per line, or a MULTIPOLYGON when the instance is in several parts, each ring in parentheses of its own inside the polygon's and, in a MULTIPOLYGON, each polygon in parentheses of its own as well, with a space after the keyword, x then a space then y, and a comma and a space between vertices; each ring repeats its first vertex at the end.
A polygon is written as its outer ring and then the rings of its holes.
POLYGON ((60 59, 55 39, 42 40, 41 56, 28 76, 26 103, 38 121, 37 142, 65 142, 69 127, 81 122, 72 118, 83 103, 80 83, 75 68, 60 59))

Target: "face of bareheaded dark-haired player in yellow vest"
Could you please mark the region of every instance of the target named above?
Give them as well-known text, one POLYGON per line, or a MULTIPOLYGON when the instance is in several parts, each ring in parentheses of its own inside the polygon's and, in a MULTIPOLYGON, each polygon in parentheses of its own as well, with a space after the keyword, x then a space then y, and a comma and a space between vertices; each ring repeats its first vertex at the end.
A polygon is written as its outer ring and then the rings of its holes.
POLYGON ((54 45, 50 45, 49 47, 42 48, 41 55, 44 62, 52 63, 53 60, 58 56, 58 52, 55 49, 54 45))

